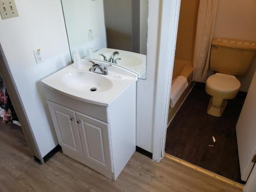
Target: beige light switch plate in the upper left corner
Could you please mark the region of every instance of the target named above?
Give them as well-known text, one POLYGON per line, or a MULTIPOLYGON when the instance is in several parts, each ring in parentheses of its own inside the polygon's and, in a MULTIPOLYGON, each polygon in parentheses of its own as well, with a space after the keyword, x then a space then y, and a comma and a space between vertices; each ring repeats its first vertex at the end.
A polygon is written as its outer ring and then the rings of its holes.
POLYGON ((0 13, 2 19, 17 17, 18 11, 14 0, 0 0, 0 13))

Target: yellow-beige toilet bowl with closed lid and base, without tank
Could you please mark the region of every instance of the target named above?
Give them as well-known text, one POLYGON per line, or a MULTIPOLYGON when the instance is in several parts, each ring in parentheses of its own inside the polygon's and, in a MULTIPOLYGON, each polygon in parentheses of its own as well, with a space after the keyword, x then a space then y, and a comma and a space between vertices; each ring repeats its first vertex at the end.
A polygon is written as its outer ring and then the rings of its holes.
POLYGON ((227 99, 237 96, 241 87, 240 81, 233 75, 216 73, 208 77, 206 81, 206 93, 211 95, 207 113, 212 116, 222 116, 227 99))

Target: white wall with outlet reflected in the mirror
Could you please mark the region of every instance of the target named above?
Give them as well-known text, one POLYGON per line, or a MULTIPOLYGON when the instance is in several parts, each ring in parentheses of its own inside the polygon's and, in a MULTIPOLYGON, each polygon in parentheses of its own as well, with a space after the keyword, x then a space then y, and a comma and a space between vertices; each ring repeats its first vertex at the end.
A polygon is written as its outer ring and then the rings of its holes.
POLYGON ((72 56, 79 53, 85 57, 88 48, 93 51, 106 48, 103 0, 62 0, 62 6, 72 56), (93 31, 92 41, 89 30, 93 31))

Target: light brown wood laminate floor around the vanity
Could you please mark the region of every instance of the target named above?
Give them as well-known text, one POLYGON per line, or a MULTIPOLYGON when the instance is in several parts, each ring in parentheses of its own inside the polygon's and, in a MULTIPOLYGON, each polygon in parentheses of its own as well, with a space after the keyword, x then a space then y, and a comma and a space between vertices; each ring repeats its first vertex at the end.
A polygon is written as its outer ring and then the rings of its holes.
MULTIPOLYGON (((13 132, 11 132, 13 133, 13 132)), ((135 153, 112 181, 58 152, 39 165, 23 140, 0 129, 0 191, 232 191, 230 184, 164 158, 160 163, 135 153)))

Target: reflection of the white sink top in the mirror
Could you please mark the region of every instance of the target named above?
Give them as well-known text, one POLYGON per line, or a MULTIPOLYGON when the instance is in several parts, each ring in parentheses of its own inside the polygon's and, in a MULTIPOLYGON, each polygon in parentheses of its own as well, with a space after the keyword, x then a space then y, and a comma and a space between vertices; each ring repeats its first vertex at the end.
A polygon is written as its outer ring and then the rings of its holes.
POLYGON ((116 65, 131 70, 134 73, 137 73, 139 78, 145 79, 146 55, 117 49, 103 48, 94 53, 94 59, 103 61, 103 57, 99 54, 103 54, 109 59, 115 51, 119 52, 119 55, 116 55, 115 58, 121 58, 121 60, 117 60, 116 65))

